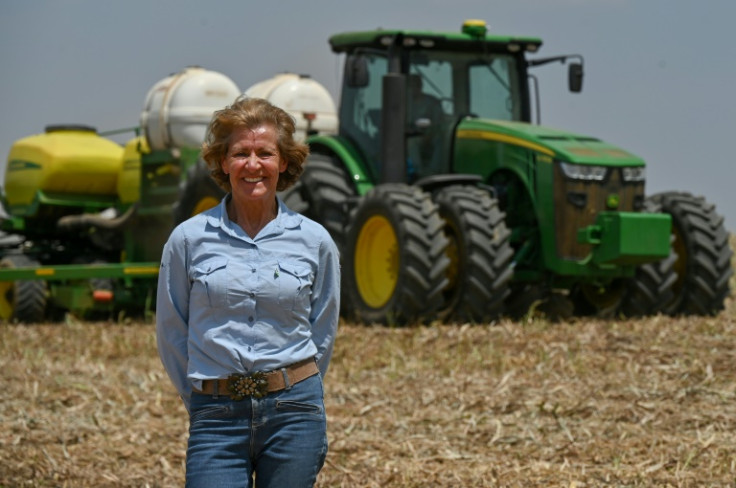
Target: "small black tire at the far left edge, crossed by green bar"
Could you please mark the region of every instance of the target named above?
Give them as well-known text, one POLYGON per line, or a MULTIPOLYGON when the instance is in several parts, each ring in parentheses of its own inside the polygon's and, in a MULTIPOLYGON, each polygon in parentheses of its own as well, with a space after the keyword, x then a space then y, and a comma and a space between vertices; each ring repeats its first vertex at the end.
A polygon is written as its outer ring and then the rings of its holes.
MULTIPOLYGON (((0 260, 0 268, 27 268, 40 263, 22 254, 0 260)), ((0 318, 8 322, 37 323, 46 317, 48 286, 43 280, 0 282, 0 318)))

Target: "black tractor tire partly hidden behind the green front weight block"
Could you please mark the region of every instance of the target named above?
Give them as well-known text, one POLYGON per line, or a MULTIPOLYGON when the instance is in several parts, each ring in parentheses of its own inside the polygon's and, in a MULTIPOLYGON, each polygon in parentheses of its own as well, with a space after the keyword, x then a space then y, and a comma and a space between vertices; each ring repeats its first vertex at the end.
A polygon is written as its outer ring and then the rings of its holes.
MULTIPOLYGON (((644 212, 660 213, 661 205, 647 198, 644 212)), ((626 317, 643 317, 664 312, 667 304, 674 298, 673 285, 677 280, 674 251, 661 261, 637 267, 635 275, 625 281, 626 292, 619 312, 626 317)))

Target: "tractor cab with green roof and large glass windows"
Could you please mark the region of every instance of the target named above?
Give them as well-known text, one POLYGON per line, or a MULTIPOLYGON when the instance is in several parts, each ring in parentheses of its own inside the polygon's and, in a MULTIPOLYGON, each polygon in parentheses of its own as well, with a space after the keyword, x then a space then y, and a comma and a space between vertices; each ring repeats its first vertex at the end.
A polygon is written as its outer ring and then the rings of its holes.
POLYGON ((347 54, 340 134, 378 181, 455 172, 454 133, 464 118, 530 121, 525 54, 539 39, 488 36, 484 22, 468 21, 456 33, 355 32, 330 44, 347 54))

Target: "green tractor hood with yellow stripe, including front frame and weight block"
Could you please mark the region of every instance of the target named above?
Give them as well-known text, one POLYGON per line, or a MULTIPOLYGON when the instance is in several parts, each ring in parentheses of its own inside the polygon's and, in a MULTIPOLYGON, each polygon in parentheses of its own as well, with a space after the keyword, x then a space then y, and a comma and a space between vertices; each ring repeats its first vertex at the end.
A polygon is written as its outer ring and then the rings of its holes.
MULTIPOLYGON (((526 269, 517 271, 515 279, 537 280, 544 273, 563 285, 568 278, 615 278, 633 275, 636 265, 661 259, 669 253, 669 217, 663 214, 606 214, 605 228, 588 258, 564 259, 558 256, 555 206, 564 204, 554 195, 553 165, 564 161, 581 165, 642 167, 644 161, 627 151, 599 139, 523 122, 466 119, 455 133, 452 170, 456 173, 479 174, 493 183, 499 174, 513 175, 520 183, 513 191, 525 193, 534 214, 529 228, 513 227, 512 232, 531 234, 529 247, 541 249, 526 269), (646 234, 646 240, 638 240, 646 234), (633 236, 633 237, 632 237, 633 236), (533 242, 532 242, 533 241, 533 242), (536 244, 535 244, 536 243, 536 244)), ((509 208, 507 212, 517 209, 509 208)), ((601 217, 602 218, 602 217, 601 217)), ((517 262, 524 255, 517 253, 517 262)))

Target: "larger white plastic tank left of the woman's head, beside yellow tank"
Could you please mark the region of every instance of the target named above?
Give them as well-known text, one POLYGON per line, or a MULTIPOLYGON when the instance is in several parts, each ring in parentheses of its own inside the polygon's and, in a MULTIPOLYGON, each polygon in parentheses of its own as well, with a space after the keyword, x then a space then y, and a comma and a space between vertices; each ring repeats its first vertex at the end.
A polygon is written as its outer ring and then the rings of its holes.
POLYGON ((148 146, 152 150, 199 147, 213 112, 240 94, 230 78, 199 66, 164 78, 149 90, 141 112, 148 146))

